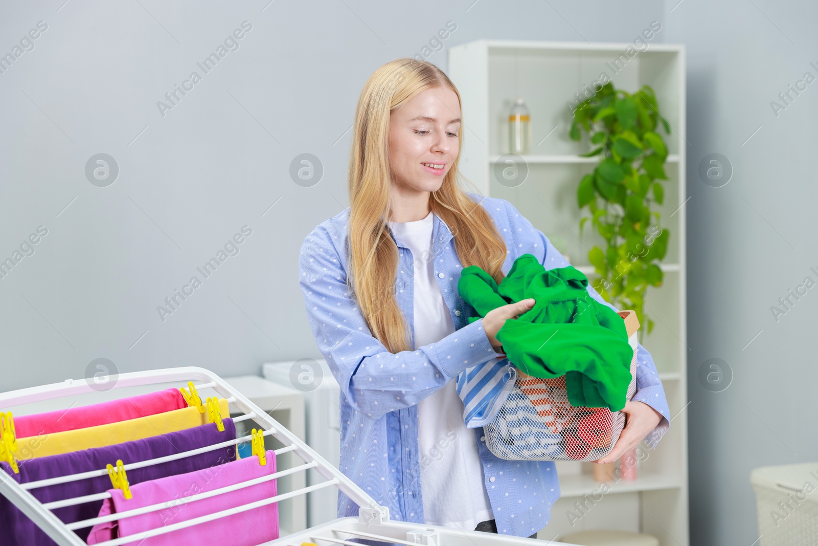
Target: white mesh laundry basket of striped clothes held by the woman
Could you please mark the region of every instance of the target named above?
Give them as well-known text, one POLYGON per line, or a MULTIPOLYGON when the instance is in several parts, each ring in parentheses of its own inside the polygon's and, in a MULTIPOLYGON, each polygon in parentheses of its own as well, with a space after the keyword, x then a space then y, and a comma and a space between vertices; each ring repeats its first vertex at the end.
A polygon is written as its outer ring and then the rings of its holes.
MULTIPOLYGON (((636 393, 636 331, 632 310, 620 311, 633 348, 631 384, 636 393)), ((519 461, 596 461, 607 455, 625 426, 625 414, 609 408, 574 407, 565 376, 540 378, 516 370, 514 388, 492 422, 484 426, 486 445, 497 457, 519 461)))

